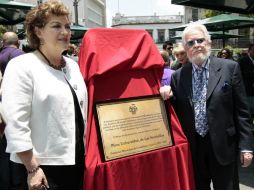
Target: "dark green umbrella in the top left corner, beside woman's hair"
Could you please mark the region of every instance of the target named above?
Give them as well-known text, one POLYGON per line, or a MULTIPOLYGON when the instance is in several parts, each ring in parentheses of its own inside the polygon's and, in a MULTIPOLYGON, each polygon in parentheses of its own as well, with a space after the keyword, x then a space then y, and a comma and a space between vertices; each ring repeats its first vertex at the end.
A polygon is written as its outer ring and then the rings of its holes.
POLYGON ((27 12, 35 5, 0 0, 0 24, 2 25, 15 25, 23 22, 27 12))

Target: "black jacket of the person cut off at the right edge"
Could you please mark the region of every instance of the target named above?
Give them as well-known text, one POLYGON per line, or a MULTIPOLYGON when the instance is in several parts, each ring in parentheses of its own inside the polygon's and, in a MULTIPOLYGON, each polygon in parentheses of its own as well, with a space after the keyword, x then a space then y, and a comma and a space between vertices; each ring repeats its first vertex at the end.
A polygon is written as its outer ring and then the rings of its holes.
POLYGON ((254 64, 249 56, 239 60, 247 96, 254 96, 254 64))

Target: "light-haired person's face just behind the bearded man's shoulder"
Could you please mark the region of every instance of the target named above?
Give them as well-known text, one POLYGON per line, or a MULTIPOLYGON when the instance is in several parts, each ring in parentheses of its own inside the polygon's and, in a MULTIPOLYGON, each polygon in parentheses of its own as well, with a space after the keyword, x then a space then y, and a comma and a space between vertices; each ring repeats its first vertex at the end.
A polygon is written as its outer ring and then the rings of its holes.
POLYGON ((176 58, 176 60, 171 65, 171 69, 173 70, 177 70, 189 62, 184 46, 180 42, 174 46, 173 55, 176 58))

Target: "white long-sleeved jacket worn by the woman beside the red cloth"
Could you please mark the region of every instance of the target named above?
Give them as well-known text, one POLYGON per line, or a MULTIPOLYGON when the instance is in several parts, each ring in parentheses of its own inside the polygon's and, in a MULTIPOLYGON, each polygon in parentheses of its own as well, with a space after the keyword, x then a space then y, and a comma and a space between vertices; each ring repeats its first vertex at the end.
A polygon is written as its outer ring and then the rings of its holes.
MULTIPOLYGON (((16 152, 33 149, 41 165, 75 164, 75 110, 73 87, 86 131, 87 90, 78 64, 64 58, 61 71, 35 53, 12 59, 2 82, 3 112, 7 119, 6 151, 21 163, 16 152)), ((85 134, 84 134, 85 136, 85 134)), ((85 140, 84 140, 85 142, 85 140)))

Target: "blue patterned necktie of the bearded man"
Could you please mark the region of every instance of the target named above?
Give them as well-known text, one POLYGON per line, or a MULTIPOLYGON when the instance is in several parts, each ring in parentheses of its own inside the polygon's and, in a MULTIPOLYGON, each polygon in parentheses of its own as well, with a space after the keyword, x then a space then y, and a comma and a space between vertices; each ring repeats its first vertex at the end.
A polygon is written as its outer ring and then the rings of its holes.
POLYGON ((206 91, 207 80, 205 77, 205 68, 198 68, 194 74, 194 110, 195 110, 195 128, 199 135, 204 137, 208 132, 206 117, 206 91))

